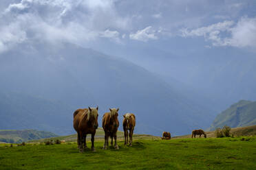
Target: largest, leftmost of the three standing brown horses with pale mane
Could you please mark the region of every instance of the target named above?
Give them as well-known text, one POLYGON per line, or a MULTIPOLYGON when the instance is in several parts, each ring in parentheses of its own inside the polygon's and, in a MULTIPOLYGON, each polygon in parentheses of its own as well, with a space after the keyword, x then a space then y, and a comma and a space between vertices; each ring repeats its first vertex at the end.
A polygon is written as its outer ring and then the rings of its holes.
POLYGON ((94 136, 98 128, 98 106, 97 108, 78 109, 73 114, 73 126, 77 132, 77 145, 81 152, 86 146, 86 135, 92 134, 92 151, 94 148, 94 136))

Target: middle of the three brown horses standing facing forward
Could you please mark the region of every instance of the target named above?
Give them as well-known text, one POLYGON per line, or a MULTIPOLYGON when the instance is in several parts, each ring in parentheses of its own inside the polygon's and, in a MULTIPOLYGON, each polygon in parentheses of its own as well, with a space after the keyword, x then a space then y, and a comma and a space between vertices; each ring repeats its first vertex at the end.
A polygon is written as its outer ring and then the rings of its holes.
POLYGON ((116 132, 118 130, 119 121, 118 121, 118 109, 109 108, 110 112, 106 112, 103 115, 103 130, 105 132, 105 143, 103 149, 107 149, 109 146, 109 137, 111 137, 111 146, 113 146, 113 137, 115 139, 115 149, 119 149, 116 143, 116 132))

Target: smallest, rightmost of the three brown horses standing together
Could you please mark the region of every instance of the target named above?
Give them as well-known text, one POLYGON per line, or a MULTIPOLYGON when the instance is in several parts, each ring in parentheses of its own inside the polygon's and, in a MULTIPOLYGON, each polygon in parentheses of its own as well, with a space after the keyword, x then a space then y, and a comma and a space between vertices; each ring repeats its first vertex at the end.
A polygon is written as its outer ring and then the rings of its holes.
POLYGON ((129 145, 132 143, 132 135, 134 134, 134 127, 136 125, 135 115, 127 113, 123 115, 124 120, 122 121, 122 127, 125 133, 125 145, 128 144, 128 130, 129 130, 129 145))

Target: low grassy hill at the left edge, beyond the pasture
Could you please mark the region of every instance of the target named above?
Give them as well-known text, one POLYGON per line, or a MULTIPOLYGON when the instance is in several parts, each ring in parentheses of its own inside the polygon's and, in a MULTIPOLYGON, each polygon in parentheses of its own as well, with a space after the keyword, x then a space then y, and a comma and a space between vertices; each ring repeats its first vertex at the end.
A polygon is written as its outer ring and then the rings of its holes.
POLYGON ((58 135, 39 130, 0 130, 0 142, 3 143, 22 143, 56 136, 58 135))

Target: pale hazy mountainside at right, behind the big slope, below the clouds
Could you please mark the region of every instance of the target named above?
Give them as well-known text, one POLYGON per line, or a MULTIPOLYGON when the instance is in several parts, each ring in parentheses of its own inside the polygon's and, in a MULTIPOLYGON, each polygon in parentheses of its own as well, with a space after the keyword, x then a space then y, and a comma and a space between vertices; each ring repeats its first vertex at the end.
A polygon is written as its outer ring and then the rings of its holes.
POLYGON ((105 43, 108 46, 104 51, 162 75, 171 86, 175 85, 173 79, 182 82, 191 99, 217 112, 241 99, 256 100, 255 52, 233 47, 202 48, 190 40, 137 42, 120 48, 105 43))

